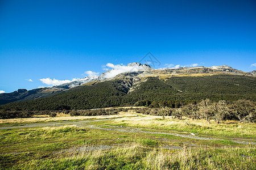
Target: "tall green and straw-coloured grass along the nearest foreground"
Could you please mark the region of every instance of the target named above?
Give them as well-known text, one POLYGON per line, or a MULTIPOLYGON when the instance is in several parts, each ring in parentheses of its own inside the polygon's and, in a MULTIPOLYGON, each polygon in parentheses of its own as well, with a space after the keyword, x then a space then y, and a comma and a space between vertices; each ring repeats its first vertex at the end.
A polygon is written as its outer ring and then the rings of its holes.
MULTIPOLYGON (((7 158, 10 155, 1 156, 7 158)), ((2 164, 3 165, 3 164, 2 164)), ((255 169, 255 148, 199 148, 164 152, 133 143, 114 150, 57 154, 13 164, 17 169, 255 169)))

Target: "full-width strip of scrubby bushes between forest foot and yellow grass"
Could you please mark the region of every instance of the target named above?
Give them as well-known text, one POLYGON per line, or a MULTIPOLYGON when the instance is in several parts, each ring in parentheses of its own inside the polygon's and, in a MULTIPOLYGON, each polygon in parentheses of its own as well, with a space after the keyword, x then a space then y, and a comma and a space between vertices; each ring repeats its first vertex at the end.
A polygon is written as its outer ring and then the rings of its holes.
POLYGON ((218 102, 209 99, 201 100, 200 103, 189 103, 180 108, 164 107, 159 104, 159 108, 150 107, 129 107, 128 108, 109 108, 109 109, 87 109, 87 110, 63 110, 63 111, 4 111, 0 110, 0 118, 23 118, 33 115, 48 114, 55 117, 56 113, 70 114, 71 116, 99 116, 113 115, 118 112, 135 111, 142 114, 150 114, 155 116, 172 116, 181 119, 188 117, 192 119, 205 119, 210 123, 214 120, 217 123, 225 120, 236 120, 240 122, 256 122, 256 103, 250 100, 237 100, 218 102))

